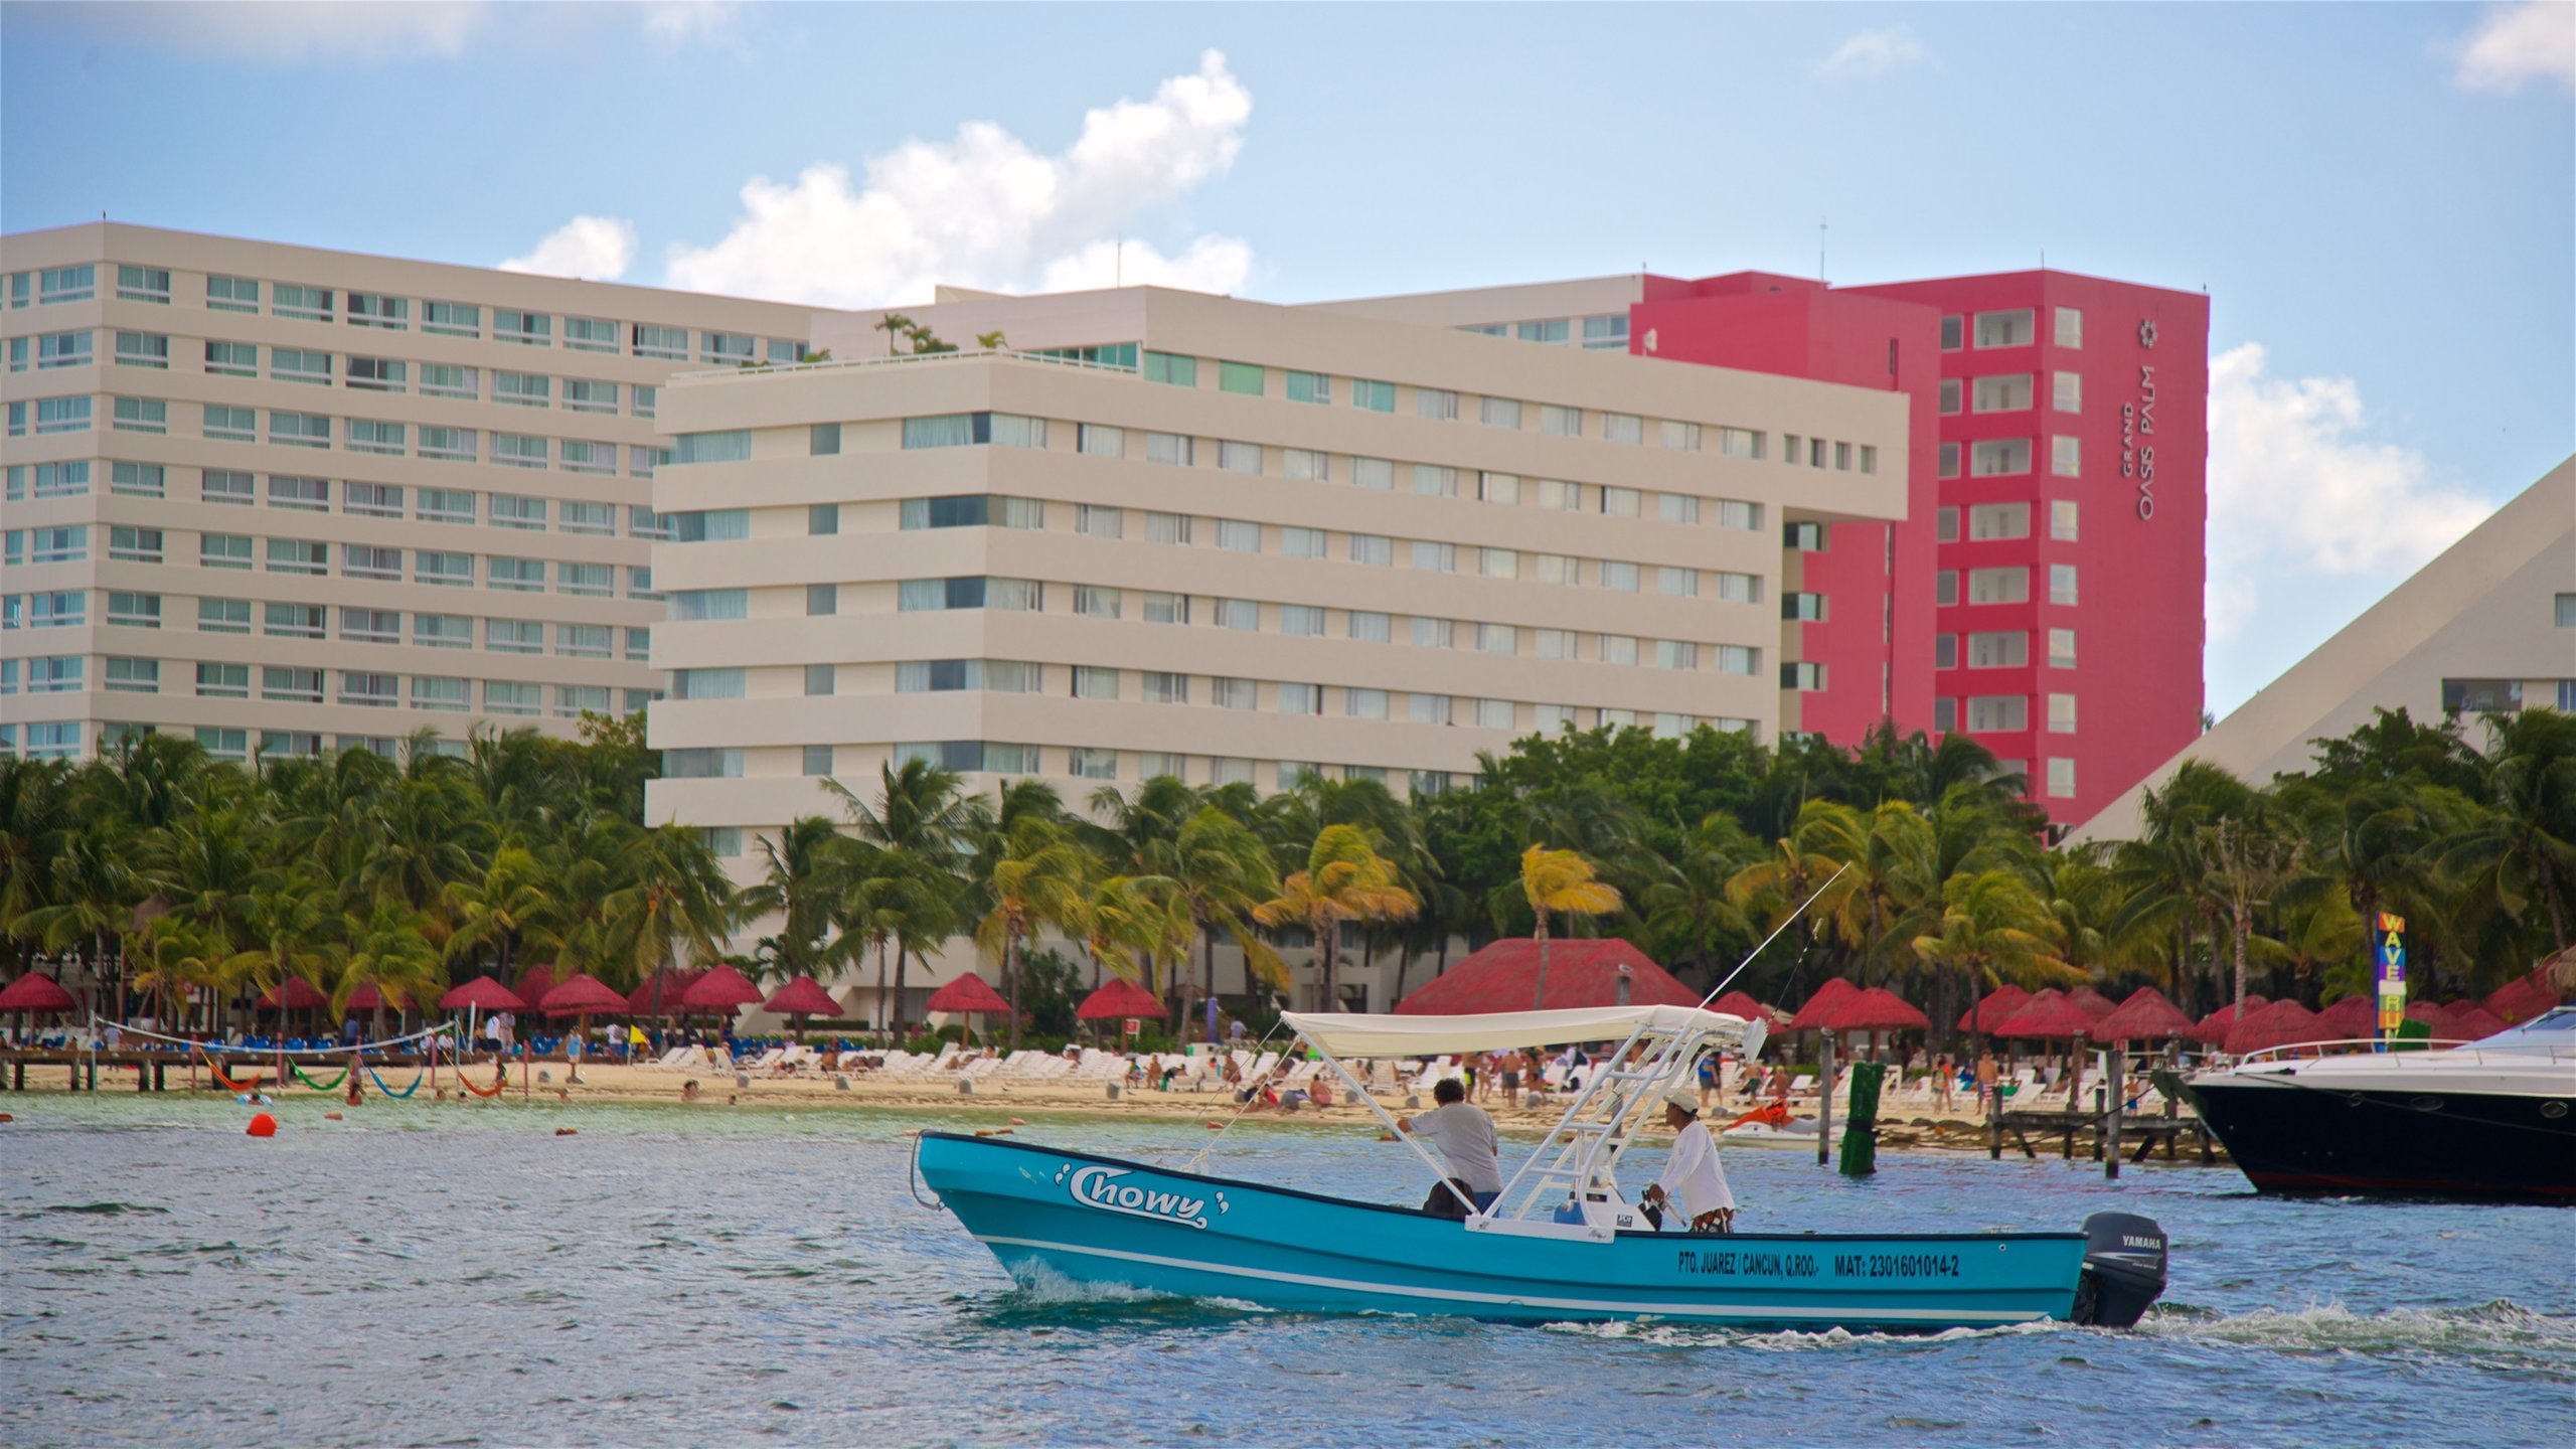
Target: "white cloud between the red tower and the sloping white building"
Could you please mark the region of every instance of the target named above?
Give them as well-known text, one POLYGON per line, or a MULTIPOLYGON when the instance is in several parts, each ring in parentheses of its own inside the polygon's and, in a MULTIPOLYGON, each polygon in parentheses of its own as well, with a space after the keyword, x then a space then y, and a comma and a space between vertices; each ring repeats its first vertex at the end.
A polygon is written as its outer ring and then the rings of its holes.
POLYGON ((2262 343, 2210 364, 2208 627, 2223 642, 2267 588, 2378 575, 2396 583, 2494 505, 2434 480, 2414 449, 2367 443, 2349 376, 2267 376, 2262 343))

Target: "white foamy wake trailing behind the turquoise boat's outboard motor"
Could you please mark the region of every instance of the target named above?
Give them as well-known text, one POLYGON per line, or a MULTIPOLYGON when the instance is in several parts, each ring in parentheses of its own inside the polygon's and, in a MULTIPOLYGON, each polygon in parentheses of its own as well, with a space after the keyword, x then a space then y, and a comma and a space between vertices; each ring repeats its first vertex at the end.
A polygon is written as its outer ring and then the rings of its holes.
POLYGON ((2494 1369, 2537 1369, 2576 1382, 2576 1318, 2532 1312, 2512 1299, 2476 1307, 2352 1312, 2339 1302, 2300 1310, 2213 1312, 2187 1302, 2148 1310, 2138 1333, 2282 1354, 2442 1356, 2494 1369))

